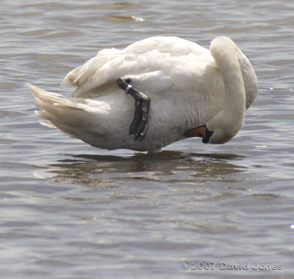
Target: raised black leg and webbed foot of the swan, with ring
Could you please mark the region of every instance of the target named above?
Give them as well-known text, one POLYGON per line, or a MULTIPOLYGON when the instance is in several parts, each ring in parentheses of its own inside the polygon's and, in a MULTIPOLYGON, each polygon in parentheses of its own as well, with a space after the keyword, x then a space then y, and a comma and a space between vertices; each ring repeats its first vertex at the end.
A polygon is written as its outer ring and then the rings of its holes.
POLYGON ((130 79, 119 78, 116 80, 119 88, 130 94, 135 99, 135 115, 129 126, 129 134, 134 134, 134 140, 141 142, 146 136, 151 119, 151 100, 144 93, 138 91, 130 85, 130 79))

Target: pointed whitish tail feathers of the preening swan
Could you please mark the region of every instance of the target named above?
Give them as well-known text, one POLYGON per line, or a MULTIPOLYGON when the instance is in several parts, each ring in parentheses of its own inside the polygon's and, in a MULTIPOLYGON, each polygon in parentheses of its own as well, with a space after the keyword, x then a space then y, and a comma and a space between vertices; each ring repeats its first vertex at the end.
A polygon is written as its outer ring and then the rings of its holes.
POLYGON ((41 109, 41 111, 35 111, 36 115, 52 123, 41 122, 43 125, 58 128, 67 134, 76 136, 72 127, 79 125, 77 118, 80 119, 80 114, 86 112, 79 103, 73 102, 66 96, 42 90, 31 84, 26 84, 26 87, 35 97, 36 106, 41 109))

